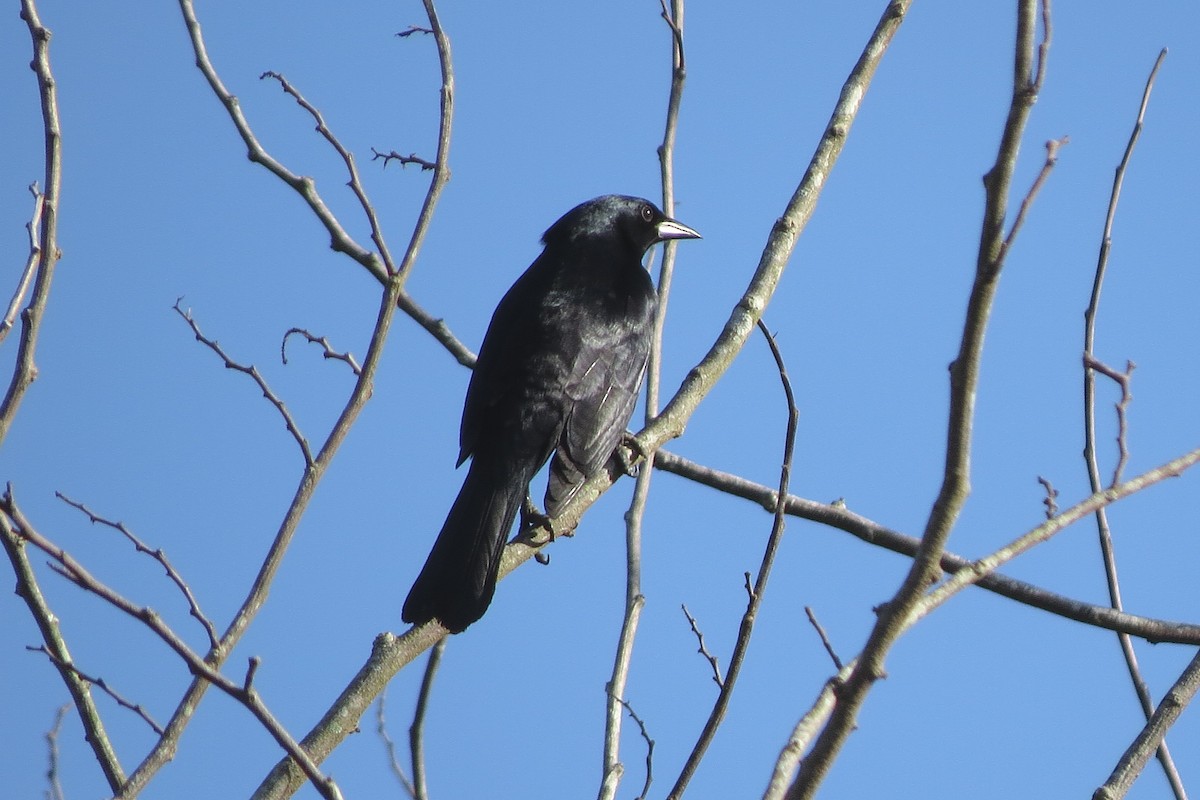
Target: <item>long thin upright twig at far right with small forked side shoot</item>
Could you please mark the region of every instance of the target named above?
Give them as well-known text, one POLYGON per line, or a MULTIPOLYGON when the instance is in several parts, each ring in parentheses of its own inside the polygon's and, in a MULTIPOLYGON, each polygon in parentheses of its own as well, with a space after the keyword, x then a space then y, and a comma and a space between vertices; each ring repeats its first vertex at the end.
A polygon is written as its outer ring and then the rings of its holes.
MULTIPOLYGON (((1121 188, 1124 185, 1126 172, 1133 157, 1134 149, 1138 145, 1138 139, 1141 138, 1141 130, 1146 120, 1146 109, 1150 107, 1150 95, 1154 88, 1154 78, 1158 76, 1158 70, 1163 66, 1165 58, 1166 48, 1163 48, 1154 60, 1150 77, 1146 78, 1146 85, 1141 92, 1141 103, 1138 106, 1138 118, 1134 121, 1129 140, 1126 143, 1121 162, 1112 174, 1112 191, 1109 194, 1109 205, 1104 215, 1104 229, 1100 236, 1099 254, 1096 260, 1092 293, 1087 302, 1087 309, 1084 312, 1084 463, 1087 469, 1087 480, 1093 492, 1099 491, 1100 487, 1099 457, 1096 452, 1097 372, 1108 375, 1121 386, 1121 401, 1117 403, 1117 447, 1120 449, 1120 455, 1112 471, 1114 483, 1117 482, 1128 458, 1126 410, 1129 404, 1129 373, 1133 369, 1133 363, 1129 362, 1126 373, 1122 375, 1122 373, 1104 366, 1096 357, 1096 324, 1100 308, 1104 276, 1108 272, 1109 251, 1112 246, 1112 224, 1116 219, 1117 203, 1121 199, 1121 188)), ((1124 604, 1121 599, 1121 579, 1117 573, 1116 549, 1112 545, 1112 531, 1109 528, 1109 518, 1104 509, 1098 509, 1096 512, 1096 531, 1100 547, 1100 558, 1104 563, 1104 579, 1109 590, 1109 602, 1112 608, 1123 610, 1124 604)), ((1121 645, 1121 654, 1126 662, 1126 669, 1129 673, 1129 681, 1133 685, 1134 693, 1138 696, 1142 715, 1148 720, 1154 712, 1154 704, 1150 694, 1150 687, 1146 686, 1146 681, 1141 675, 1141 668, 1138 664, 1138 654, 1134 651, 1133 642, 1129 640, 1128 636, 1118 634, 1117 642, 1121 645)), ((1158 762, 1166 775, 1166 781, 1171 786, 1176 800, 1183 800, 1187 796, 1183 781, 1180 778, 1175 759, 1171 757, 1165 741, 1158 748, 1158 762)))

